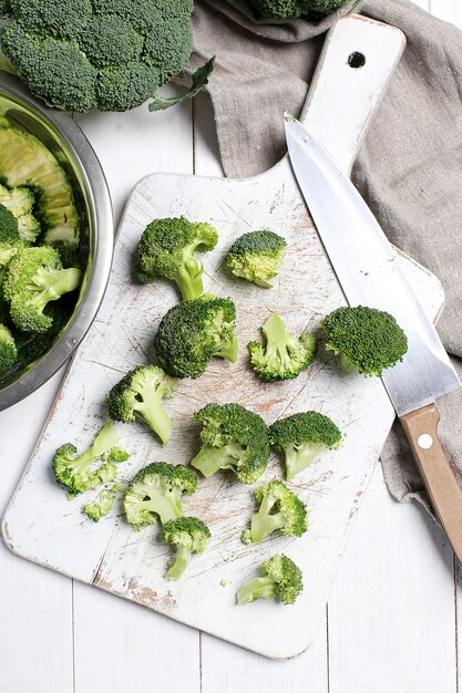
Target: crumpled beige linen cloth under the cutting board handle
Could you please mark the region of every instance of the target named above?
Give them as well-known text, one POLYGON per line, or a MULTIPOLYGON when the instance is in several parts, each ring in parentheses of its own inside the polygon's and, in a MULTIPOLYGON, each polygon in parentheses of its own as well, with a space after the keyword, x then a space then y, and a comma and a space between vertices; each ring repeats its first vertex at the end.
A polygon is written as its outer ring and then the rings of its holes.
MULTIPOLYGON (((438 329, 462 374, 462 32, 408 0, 351 0, 320 22, 263 19, 246 0, 195 4, 192 65, 217 56, 209 94, 223 166, 233 177, 258 174, 283 156, 281 113, 300 113, 324 34, 338 17, 355 6, 404 32, 404 55, 353 180, 389 239, 442 281, 438 329)), ((439 407, 440 436, 462 482, 462 391, 439 407)), ((381 459, 394 498, 431 511, 398 423, 381 459)))

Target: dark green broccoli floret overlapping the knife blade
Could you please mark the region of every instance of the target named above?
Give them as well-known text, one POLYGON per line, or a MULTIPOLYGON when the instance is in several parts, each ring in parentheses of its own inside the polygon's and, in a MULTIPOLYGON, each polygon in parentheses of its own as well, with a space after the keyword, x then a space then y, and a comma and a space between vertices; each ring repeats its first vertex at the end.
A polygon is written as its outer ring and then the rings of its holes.
POLYGON ((326 350, 339 355, 340 369, 380 375, 402 361, 408 338, 393 316, 377 308, 337 308, 322 320, 326 350))

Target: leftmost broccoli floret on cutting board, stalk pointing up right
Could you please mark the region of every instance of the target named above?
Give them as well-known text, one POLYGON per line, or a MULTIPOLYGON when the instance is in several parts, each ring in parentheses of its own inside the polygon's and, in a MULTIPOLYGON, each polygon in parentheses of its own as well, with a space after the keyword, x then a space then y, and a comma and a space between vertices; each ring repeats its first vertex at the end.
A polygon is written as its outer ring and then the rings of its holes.
POLYGON ((64 443, 57 449, 53 457, 53 472, 58 484, 75 496, 114 480, 117 467, 112 462, 105 462, 96 469, 92 468, 92 465, 104 453, 117 446, 119 435, 111 421, 100 431, 93 445, 81 455, 78 455, 75 445, 64 443))

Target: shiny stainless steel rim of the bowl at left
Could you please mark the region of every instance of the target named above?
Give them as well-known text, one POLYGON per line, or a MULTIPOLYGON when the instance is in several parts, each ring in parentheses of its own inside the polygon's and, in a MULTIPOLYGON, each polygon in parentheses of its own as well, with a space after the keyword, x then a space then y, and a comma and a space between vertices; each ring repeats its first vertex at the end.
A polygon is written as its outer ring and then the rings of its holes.
POLYGON ((78 311, 53 348, 21 377, 0 390, 0 411, 20 402, 43 385, 69 361, 92 325, 104 298, 111 272, 114 246, 114 221, 111 196, 100 161, 81 128, 68 113, 47 107, 25 90, 22 83, 0 71, 0 93, 10 95, 49 122, 72 151, 86 179, 92 199, 94 238, 92 268, 78 311))

